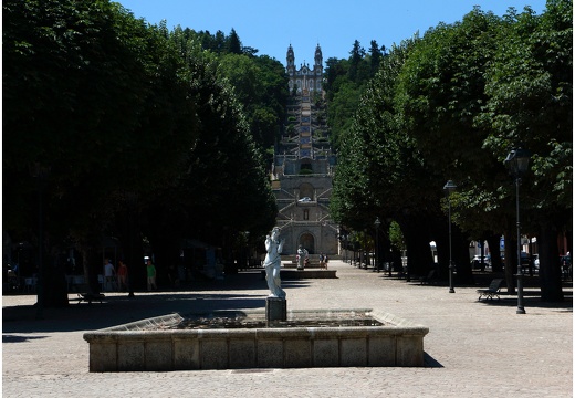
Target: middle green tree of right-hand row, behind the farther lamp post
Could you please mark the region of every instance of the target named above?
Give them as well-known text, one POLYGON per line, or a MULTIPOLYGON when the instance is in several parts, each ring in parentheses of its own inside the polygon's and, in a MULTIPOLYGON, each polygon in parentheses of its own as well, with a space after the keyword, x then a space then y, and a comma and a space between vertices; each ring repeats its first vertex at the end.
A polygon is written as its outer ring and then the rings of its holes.
MULTIPOLYGON (((439 177, 436 188, 429 188, 437 191, 448 179, 458 181, 454 220, 467 231, 477 230, 475 239, 488 230, 506 230, 501 222, 505 212, 493 213, 499 207, 488 206, 493 195, 485 195, 499 187, 504 169, 496 156, 482 148, 488 130, 474 123, 488 100, 484 73, 499 29, 499 18, 475 7, 461 22, 441 23, 426 32, 399 75, 397 100, 407 134, 428 174, 439 177)), ((471 281, 469 254, 462 249, 467 245, 463 241, 456 247, 454 259, 458 279, 471 281)), ((442 247, 438 242, 440 254, 442 247)))

